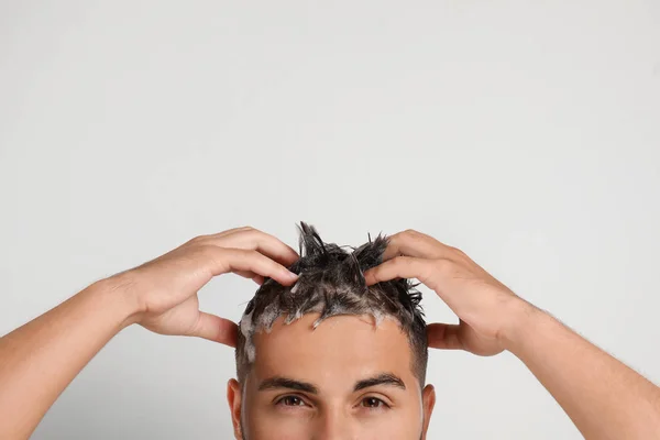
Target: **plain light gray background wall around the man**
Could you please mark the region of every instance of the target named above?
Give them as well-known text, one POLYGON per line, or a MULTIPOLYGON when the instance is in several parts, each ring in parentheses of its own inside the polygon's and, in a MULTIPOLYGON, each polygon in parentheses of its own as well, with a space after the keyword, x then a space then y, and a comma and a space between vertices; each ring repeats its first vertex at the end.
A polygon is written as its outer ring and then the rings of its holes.
MULTIPOLYGON (((658 382, 659 162, 657 1, 2 1, 0 333, 201 233, 415 228, 658 382)), ((513 355, 429 369, 432 439, 580 438, 513 355)), ((129 328, 34 438, 231 438, 232 375, 129 328)))

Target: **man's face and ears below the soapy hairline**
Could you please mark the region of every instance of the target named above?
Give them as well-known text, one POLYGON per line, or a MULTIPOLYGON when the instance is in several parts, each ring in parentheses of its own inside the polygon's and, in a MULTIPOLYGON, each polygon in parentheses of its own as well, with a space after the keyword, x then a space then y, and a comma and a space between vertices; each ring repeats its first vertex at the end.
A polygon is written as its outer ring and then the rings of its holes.
POLYGON ((235 437, 426 438, 436 396, 414 375, 398 322, 385 319, 376 327, 370 316, 336 316, 312 330, 318 317, 290 324, 278 318, 271 332, 256 333, 243 393, 229 382, 235 437))

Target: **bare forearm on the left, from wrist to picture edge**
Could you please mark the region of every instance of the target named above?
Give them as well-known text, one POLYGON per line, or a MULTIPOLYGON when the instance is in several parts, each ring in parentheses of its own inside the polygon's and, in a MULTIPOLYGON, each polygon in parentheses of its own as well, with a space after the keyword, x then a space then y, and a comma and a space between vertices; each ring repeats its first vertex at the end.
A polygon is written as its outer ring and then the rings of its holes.
POLYGON ((113 282, 102 280, 0 338, 0 438, 28 438, 133 310, 113 282))

